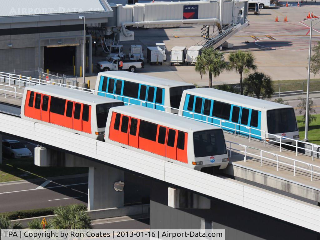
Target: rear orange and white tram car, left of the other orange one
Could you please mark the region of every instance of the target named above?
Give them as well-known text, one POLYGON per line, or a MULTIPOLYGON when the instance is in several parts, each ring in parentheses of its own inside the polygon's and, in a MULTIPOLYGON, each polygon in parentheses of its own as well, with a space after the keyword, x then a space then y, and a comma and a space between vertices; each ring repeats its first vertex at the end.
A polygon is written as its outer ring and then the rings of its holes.
POLYGON ((55 85, 26 87, 21 118, 103 140, 109 109, 124 105, 115 99, 55 85))

